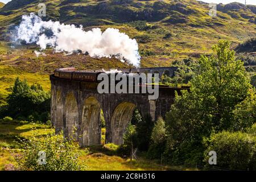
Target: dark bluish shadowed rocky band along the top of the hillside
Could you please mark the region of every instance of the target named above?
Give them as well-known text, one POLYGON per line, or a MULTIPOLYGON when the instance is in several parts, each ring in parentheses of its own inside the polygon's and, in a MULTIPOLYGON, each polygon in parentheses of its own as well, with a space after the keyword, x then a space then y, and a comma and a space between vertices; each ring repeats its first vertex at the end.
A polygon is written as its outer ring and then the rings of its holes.
MULTIPOLYGON (((166 18, 168 15, 175 13, 181 13, 184 15, 194 13, 182 3, 168 4, 164 2, 154 2, 153 4, 145 5, 141 8, 140 2, 133 2, 131 0, 115 0, 104 1, 97 4, 88 6, 63 6, 60 9, 61 17, 68 19, 68 11, 74 11, 75 13, 83 13, 86 15, 97 15, 101 18, 108 18, 114 20, 114 22, 131 22, 135 20, 147 20, 155 22, 166 18), (134 10, 134 7, 138 8, 134 10)), ((179 22, 179 20, 177 20, 179 22)))

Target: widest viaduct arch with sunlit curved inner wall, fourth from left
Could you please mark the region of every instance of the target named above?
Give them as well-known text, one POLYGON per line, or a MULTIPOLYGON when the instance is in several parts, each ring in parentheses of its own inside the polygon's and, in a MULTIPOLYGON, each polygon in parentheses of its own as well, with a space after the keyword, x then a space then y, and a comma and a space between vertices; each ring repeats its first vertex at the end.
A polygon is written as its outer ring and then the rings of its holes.
POLYGON ((114 144, 123 144, 123 134, 128 123, 131 121, 135 104, 131 102, 121 102, 115 107, 111 118, 111 138, 114 144))

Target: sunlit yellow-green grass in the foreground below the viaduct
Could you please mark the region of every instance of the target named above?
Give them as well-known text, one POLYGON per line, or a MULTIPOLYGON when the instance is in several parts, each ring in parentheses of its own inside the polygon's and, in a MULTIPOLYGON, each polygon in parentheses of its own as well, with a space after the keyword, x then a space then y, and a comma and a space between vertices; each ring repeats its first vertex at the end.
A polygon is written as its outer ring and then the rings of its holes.
MULTIPOLYGON (((54 129, 46 125, 28 123, 16 125, 15 123, 0 123, 0 171, 5 169, 6 164, 14 164, 14 156, 19 153, 19 146, 14 142, 16 137, 29 139, 31 136, 43 137, 54 133, 54 129)), ((88 170, 162 170, 162 169, 187 169, 175 166, 160 167, 154 161, 140 159, 138 161, 121 158, 102 152, 100 146, 92 147, 92 150, 81 148, 81 160, 88 166, 88 170)))

